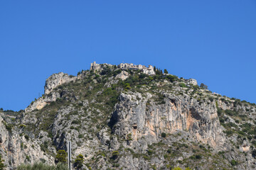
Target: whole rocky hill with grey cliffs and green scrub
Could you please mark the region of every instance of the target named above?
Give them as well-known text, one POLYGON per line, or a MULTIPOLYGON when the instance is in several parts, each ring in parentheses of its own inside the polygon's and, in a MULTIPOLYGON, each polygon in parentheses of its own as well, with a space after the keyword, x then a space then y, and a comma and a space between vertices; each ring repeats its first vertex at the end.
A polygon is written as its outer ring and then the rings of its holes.
POLYGON ((80 169, 256 169, 255 103, 154 72, 93 64, 53 74, 25 111, 0 111, 6 169, 55 164, 68 140, 80 169))

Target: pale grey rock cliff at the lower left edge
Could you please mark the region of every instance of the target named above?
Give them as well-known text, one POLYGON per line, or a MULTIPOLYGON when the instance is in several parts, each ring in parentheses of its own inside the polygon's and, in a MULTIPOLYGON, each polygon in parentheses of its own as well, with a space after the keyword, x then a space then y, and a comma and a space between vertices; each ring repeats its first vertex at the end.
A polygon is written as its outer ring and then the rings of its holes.
POLYGON ((1 154, 5 160, 4 163, 8 165, 7 169, 28 162, 54 163, 53 157, 41 151, 38 141, 30 140, 28 135, 25 135, 18 128, 13 128, 12 130, 10 126, 7 126, 7 128, 8 130, 6 129, 6 122, 0 116, 1 154))

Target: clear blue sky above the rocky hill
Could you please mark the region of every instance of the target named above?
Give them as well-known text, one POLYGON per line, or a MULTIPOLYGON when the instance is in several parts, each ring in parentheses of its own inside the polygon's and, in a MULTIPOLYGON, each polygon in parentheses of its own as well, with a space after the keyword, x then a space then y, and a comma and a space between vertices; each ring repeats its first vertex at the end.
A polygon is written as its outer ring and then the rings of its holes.
POLYGON ((0 1, 0 59, 5 110, 93 61, 153 64, 256 103, 256 1, 0 1))

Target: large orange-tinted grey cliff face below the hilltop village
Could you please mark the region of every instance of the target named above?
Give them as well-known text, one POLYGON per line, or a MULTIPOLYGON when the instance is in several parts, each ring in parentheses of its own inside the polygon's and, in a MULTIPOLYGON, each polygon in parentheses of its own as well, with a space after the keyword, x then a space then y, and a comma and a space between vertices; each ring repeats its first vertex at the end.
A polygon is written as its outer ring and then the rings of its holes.
POLYGON ((134 141, 149 136, 158 141, 162 132, 172 134, 183 131, 212 147, 221 147, 225 142, 214 105, 199 106, 193 99, 177 98, 171 94, 164 94, 165 103, 162 104, 154 102, 151 94, 146 94, 139 103, 132 101, 137 96, 142 98, 141 94, 120 96, 117 108, 122 109, 117 110, 116 124, 122 128, 114 129, 118 135, 131 133, 134 141), (147 102, 150 106, 146 106, 147 102), (137 125, 136 130, 132 125, 137 125))

